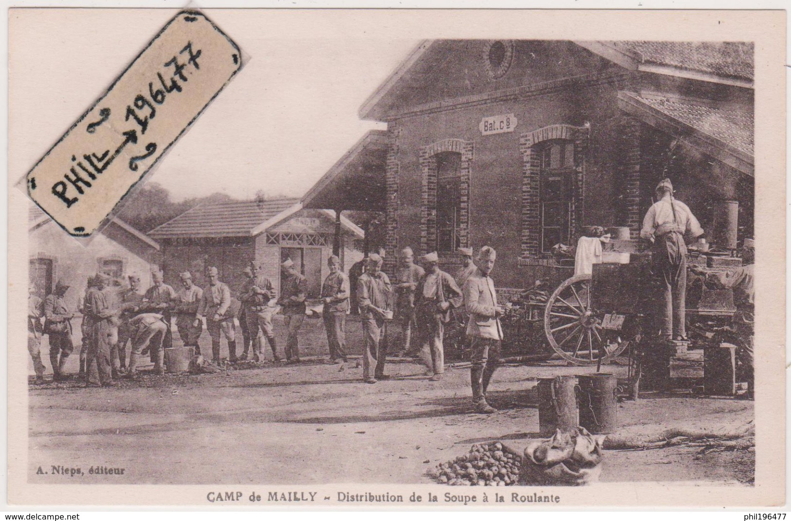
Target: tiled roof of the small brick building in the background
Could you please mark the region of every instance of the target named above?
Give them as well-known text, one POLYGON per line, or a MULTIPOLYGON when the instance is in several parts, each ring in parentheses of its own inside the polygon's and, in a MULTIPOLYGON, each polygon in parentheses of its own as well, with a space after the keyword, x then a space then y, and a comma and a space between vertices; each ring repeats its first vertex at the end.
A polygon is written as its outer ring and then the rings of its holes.
POLYGON ((153 238, 247 237, 267 219, 299 203, 298 199, 278 199, 257 203, 210 203, 185 211, 149 231, 153 238))

